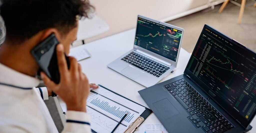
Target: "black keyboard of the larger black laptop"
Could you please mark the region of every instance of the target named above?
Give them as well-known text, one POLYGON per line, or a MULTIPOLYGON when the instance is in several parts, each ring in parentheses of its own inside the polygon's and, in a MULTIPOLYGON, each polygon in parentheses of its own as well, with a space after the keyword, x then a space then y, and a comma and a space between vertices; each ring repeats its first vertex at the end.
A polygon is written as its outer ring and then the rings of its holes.
POLYGON ((166 85, 165 88, 190 114, 188 117, 197 128, 205 132, 225 132, 233 125, 227 121, 212 105, 196 92, 184 79, 166 85), (199 124, 199 122, 203 124, 199 124))

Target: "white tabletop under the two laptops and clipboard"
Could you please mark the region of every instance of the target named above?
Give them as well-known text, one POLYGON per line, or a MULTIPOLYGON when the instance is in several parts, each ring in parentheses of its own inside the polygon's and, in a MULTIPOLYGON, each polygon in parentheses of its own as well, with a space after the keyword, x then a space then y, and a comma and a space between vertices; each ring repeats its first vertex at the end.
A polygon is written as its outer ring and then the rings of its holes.
MULTIPOLYGON (((85 47, 91 54, 90 58, 79 61, 79 63, 81 64, 82 71, 87 75, 90 83, 100 84, 148 108, 148 105, 138 93, 139 90, 142 90, 145 87, 107 67, 110 62, 133 48, 134 38, 135 29, 132 29, 79 46, 81 48, 85 47)), ((183 48, 180 50, 177 68, 173 73, 170 73, 160 82, 183 74, 190 58, 190 54, 183 48)), ((56 105, 63 122, 65 121, 65 116, 62 113, 56 97, 55 102, 57 103, 56 105)), ((152 113, 141 126, 144 126, 144 124, 157 123, 161 122, 157 119, 155 114, 152 113)), ((252 121, 251 125, 256 126, 255 119, 252 121)), ((136 132, 144 131, 140 131, 140 128, 138 128, 136 132)), ((250 132, 256 132, 255 128, 252 128, 250 132)))

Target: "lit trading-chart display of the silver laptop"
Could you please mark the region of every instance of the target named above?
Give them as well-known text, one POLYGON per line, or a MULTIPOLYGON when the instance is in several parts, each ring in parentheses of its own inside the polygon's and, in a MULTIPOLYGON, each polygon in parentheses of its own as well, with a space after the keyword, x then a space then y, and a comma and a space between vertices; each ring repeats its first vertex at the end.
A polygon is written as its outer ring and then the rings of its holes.
POLYGON ((176 61, 182 31, 138 17, 134 44, 176 61))

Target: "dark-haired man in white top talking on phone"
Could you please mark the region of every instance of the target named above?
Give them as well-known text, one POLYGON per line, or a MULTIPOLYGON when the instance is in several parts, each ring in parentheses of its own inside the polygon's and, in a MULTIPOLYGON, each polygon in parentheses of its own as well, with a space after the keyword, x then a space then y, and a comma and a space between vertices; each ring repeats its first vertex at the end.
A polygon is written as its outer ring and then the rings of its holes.
MULTIPOLYGON (((67 123, 62 132, 91 132, 86 114, 90 85, 76 59, 64 53, 76 40, 78 18, 93 9, 88 0, 2 0, 0 14, 6 38, 0 48, 0 132, 58 132, 39 92, 36 73, 39 66, 30 50, 54 33, 60 83, 41 73, 45 85, 67 104, 67 123)), ((97 88, 97 86, 92 85, 97 88)), ((49 90, 49 93, 51 91, 49 90)))

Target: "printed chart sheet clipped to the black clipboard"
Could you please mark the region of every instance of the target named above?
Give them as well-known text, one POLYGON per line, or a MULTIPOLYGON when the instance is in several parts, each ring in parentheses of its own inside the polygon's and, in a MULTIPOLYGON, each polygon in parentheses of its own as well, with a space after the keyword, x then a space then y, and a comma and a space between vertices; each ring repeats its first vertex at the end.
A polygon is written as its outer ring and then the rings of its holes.
MULTIPOLYGON (((58 98, 58 100, 61 100, 58 98)), ((60 102, 61 108, 66 112, 66 104, 60 102)), ((92 89, 87 98, 86 111, 91 116, 91 129, 98 133, 111 132, 125 113, 127 116, 115 130, 124 132, 146 108, 127 100, 101 86, 92 89)))

